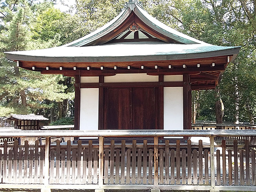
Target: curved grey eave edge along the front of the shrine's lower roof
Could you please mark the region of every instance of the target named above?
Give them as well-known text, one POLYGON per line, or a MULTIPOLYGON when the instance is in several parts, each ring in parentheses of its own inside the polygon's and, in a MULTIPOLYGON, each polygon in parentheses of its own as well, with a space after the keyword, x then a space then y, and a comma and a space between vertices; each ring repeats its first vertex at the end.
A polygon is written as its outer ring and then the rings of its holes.
MULTIPOLYGON (((219 46, 217 46, 219 47, 219 46)), ((58 47, 56 47, 58 48, 58 47)), ((64 47, 63 47, 64 48, 64 47)), ((71 48, 71 47, 70 47, 71 48)), ((75 47, 74 47, 75 48, 75 47)), ((89 48, 89 47, 84 47, 89 48)), ((5 52, 6 57, 12 61, 31 61, 31 62, 134 62, 134 61, 172 61, 172 60, 183 60, 183 59, 199 59, 208 57, 221 57, 225 55, 237 56, 240 47, 225 47, 221 50, 212 51, 201 51, 201 52, 176 52, 176 53, 164 53, 164 54, 151 54, 151 55, 98 55, 98 56, 54 56, 54 48, 46 49, 49 55, 36 55, 36 54, 24 54, 29 51, 15 51, 15 52, 5 52)), ((36 51, 36 50, 33 50, 36 51)), ((31 51, 31 52, 33 52, 31 51)), ((71 52, 71 50, 65 50, 71 52)), ((73 50, 76 51, 76 50, 73 50)), ((62 50, 63 52, 63 50, 62 50)), ((234 57, 232 60, 234 60, 234 57)))

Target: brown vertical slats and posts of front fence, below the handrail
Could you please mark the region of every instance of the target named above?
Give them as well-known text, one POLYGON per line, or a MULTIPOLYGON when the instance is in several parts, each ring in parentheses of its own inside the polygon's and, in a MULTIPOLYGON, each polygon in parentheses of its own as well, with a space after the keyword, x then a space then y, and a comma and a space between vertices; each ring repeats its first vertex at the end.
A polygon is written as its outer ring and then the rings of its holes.
MULTIPOLYGON (((49 137, 47 141, 50 143, 49 137)), ((29 141, 19 145, 15 140, 10 145, 6 140, 0 145, 0 185, 256 186, 255 146, 245 140, 238 147, 234 140, 232 148, 227 148, 222 140, 214 150, 213 141, 210 136, 209 146, 202 140, 196 144, 120 135, 77 143, 57 140, 51 145, 40 145, 39 140, 33 145, 29 141)))

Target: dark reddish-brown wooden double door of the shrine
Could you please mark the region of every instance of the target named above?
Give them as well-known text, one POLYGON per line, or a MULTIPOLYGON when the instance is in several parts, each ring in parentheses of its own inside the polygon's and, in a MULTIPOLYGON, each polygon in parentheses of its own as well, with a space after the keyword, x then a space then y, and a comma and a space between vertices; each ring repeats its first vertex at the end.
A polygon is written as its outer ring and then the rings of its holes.
POLYGON ((104 88, 104 129, 158 129, 158 87, 104 88))

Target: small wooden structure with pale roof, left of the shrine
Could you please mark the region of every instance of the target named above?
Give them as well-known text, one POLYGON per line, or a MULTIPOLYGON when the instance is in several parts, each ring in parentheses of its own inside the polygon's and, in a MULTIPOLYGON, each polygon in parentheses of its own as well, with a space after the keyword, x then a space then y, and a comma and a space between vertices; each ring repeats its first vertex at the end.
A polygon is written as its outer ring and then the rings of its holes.
MULTIPOLYGON (((14 122, 13 127, 21 130, 39 130, 40 121, 47 121, 46 117, 43 115, 17 115, 11 114, 5 117, 3 120, 14 122)), ((10 123, 13 124, 13 123, 10 123)), ((42 126, 42 124, 41 124, 42 126)))

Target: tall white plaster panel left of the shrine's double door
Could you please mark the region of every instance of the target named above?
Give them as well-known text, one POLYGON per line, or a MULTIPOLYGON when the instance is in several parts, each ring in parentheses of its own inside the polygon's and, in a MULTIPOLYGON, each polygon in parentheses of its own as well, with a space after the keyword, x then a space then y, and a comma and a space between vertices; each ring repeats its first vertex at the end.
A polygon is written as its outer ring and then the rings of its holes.
POLYGON ((80 89, 80 130, 98 130, 99 89, 80 89))

